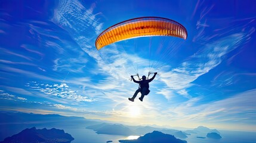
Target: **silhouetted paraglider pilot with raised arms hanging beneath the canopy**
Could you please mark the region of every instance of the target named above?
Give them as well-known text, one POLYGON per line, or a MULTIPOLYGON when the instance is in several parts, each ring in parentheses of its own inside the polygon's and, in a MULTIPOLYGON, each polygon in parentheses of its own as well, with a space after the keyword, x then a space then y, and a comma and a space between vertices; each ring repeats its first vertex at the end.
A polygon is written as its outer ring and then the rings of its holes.
POLYGON ((141 93, 141 97, 138 98, 140 101, 143 101, 143 98, 145 95, 149 94, 150 90, 149 90, 149 83, 155 79, 156 77, 156 74, 158 73, 155 73, 154 76, 151 78, 151 79, 146 79, 146 76, 142 76, 142 80, 140 81, 137 81, 134 79, 133 76, 131 76, 132 80, 135 82, 135 83, 138 83, 140 84, 140 86, 138 87, 137 91, 135 91, 134 95, 132 98, 128 98, 129 101, 134 101, 135 97, 137 97, 137 94, 138 92, 141 93))

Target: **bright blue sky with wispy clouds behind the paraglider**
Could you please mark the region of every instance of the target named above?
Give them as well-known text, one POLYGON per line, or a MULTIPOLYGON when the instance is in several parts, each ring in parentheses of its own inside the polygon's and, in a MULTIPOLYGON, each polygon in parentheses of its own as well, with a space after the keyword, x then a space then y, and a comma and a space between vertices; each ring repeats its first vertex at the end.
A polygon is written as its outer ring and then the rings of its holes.
POLYGON ((0 108, 135 125, 255 130, 255 5, 1 1, 0 108), (95 39, 104 29, 144 16, 178 21, 187 29, 186 41, 137 38, 97 51, 95 39), (149 71, 160 74, 150 95, 129 102, 138 88, 129 77, 149 71))

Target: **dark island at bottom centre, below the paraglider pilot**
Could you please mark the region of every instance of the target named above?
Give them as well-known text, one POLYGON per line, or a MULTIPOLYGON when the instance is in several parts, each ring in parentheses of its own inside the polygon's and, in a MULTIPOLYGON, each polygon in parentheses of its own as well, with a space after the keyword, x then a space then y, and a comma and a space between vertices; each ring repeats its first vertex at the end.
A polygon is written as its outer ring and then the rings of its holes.
POLYGON ((140 136, 138 139, 132 140, 119 140, 119 142, 123 143, 186 143, 187 141, 183 141, 181 139, 175 138, 173 135, 168 135, 162 132, 153 131, 152 133, 147 133, 144 136, 140 136))

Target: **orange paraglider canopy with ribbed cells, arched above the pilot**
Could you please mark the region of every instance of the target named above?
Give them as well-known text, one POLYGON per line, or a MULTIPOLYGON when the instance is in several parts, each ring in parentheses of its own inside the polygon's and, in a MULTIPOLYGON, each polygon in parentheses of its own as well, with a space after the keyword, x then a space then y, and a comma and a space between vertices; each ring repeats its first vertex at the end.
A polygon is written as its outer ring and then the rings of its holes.
POLYGON ((175 36, 187 39, 186 28, 177 21, 162 17, 138 17, 110 26, 95 41, 99 50, 103 46, 125 39, 143 36, 175 36))

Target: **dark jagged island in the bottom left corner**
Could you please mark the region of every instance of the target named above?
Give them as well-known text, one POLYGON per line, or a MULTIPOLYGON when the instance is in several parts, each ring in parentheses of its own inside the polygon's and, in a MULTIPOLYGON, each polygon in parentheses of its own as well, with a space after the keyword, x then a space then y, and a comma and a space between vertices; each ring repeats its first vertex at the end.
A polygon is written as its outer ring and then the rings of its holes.
POLYGON ((69 143, 73 141, 74 138, 65 133, 64 130, 60 129, 36 129, 35 127, 31 129, 24 129, 20 133, 13 135, 11 137, 5 138, 4 141, 0 143, 69 143))

